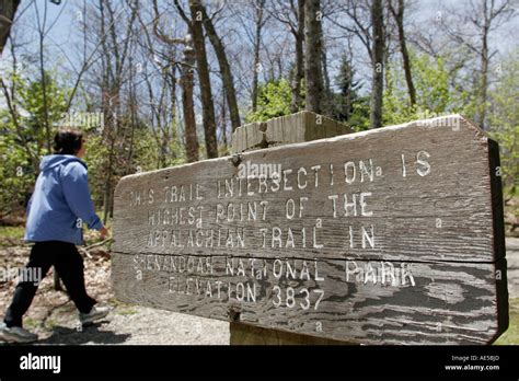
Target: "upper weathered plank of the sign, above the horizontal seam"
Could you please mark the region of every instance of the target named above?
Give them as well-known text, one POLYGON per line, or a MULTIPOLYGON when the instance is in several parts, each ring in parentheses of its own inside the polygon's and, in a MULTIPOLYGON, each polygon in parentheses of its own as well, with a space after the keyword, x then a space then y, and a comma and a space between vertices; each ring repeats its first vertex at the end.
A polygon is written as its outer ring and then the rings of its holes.
MULTIPOLYGON (((172 231, 181 231, 185 235, 189 230, 197 230, 196 224, 148 223, 150 210, 168 210, 172 215, 176 208, 196 206, 203 208, 201 229, 206 232, 211 229, 214 232, 218 229, 245 230, 250 244, 245 249, 235 249, 240 255, 461 262, 494 262, 504 255, 503 251, 494 251, 496 227, 493 224, 491 201, 488 139, 464 119, 460 119, 459 130, 410 124, 258 150, 241 154, 240 160, 241 163, 280 164, 282 170, 291 170, 287 184, 293 189, 218 199, 218 181, 235 178, 238 174, 231 158, 126 176, 115 192, 115 250, 124 253, 227 254, 227 246, 207 250, 171 246, 172 231), (413 158, 419 151, 430 154, 430 173, 426 176, 420 176, 413 168, 416 166, 413 158), (401 154, 408 158, 406 177, 402 176, 401 154), (381 169, 380 176, 374 176, 373 182, 365 180, 347 184, 344 181, 342 168, 345 162, 356 163, 358 172, 359 161, 368 162, 370 159, 373 168, 381 169), (330 164, 334 166, 333 185, 328 182, 330 164), (318 187, 314 187, 313 165, 321 165, 318 187), (297 188, 297 171, 300 168, 308 172, 308 185, 302 190, 297 188), (199 185, 203 200, 164 203, 168 196, 164 188, 183 185, 187 189, 191 184, 199 185), (141 196, 140 205, 131 204, 131 192, 146 194, 150 188, 153 189, 153 204, 145 199, 146 195, 141 196), (338 211, 337 218, 333 218, 333 201, 328 196, 338 195, 338 205, 344 194, 351 201, 351 197, 357 195, 358 199, 360 193, 371 194, 366 197, 371 217, 359 216, 357 210, 356 217, 345 217, 344 212, 338 211), (300 197, 309 198, 304 205, 304 217, 288 220, 285 213, 287 200, 290 198, 299 203, 300 197), (260 210, 257 203, 268 203, 265 221, 216 222, 216 204, 227 207, 231 203, 239 209, 241 203, 247 201, 256 201, 260 210), (302 228, 307 228, 309 238, 318 219, 322 221, 322 228, 316 231, 318 244, 324 244, 324 247, 314 249, 313 242, 308 242, 307 247, 296 244, 293 249, 291 245, 281 249, 276 245, 273 249, 272 242, 270 247, 263 247, 260 229, 290 227, 295 239, 301 242, 302 228), (361 227, 370 229, 371 224, 374 247, 366 250, 361 247, 361 227), (354 247, 349 245, 350 226, 355 234, 354 247), (149 233, 157 231, 169 231, 170 240, 164 246, 162 242, 153 247, 147 246, 149 233)), ((244 181, 242 183, 245 184, 244 181)), ((251 180, 252 189, 257 188, 257 180, 251 180)), ((244 208, 246 210, 247 206, 244 205, 244 208)), ((357 209, 360 208, 357 206, 357 209)), ((282 246, 286 246, 285 240, 282 246)))

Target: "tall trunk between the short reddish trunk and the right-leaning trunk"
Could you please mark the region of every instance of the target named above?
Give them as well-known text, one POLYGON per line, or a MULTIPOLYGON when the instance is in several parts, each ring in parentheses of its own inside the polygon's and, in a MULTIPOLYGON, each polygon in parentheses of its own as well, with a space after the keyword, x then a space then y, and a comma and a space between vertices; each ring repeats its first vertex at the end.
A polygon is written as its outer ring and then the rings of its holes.
POLYGON ((195 46, 198 80, 200 83, 207 158, 212 159, 218 158, 218 145, 216 138, 215 104, 212 102, 209 65, 207 64, 206 43, 203 30, 203 7, 200 1, 189 0, 189 10, 192 14, 193 43, 195 46))

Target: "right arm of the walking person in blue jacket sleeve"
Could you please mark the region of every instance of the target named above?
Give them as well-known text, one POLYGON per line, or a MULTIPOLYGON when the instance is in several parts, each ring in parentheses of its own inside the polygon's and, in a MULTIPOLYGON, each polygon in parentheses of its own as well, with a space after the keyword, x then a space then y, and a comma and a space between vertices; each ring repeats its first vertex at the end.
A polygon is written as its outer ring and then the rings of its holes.
POLYGON ((69 163, 62 169, 61 185, 67 204, 76 217, 86 223, 89 229, 105 232, 90 197, 86 169, 78 162, 69 163))

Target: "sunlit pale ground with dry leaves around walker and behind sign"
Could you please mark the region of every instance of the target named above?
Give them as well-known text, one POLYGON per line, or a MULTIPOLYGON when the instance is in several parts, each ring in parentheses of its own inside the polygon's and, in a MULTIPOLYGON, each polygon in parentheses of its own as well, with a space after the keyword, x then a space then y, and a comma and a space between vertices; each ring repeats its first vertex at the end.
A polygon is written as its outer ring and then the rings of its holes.
MULTIPOLYGON (((22 235, 23 228, 0 227, 0 268, 20 268, 27 261, 30 246, 23 243, 22 235)), ((86 235, 86 242, 92 243, 94 236, 86 235)), ((496 344, 519 344, 519 238, 507 238, 507 261, 510 325, 496 344)), ((68 295, 54 290, 50 270, 24 318, 24 326, 39 335, 38 344, 229 344, 227 322, 118 302, 111 290, 106 247, 92 249, 84 265, 89 293, 100 303, 111 305, 112 312, 105 321, 81 330, 68 295)), ((15 282, 12 277, 0 277, 0 316, 11 301, 15 282)))

